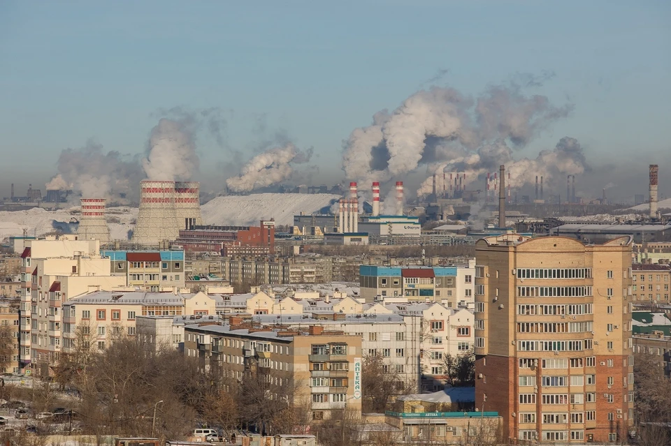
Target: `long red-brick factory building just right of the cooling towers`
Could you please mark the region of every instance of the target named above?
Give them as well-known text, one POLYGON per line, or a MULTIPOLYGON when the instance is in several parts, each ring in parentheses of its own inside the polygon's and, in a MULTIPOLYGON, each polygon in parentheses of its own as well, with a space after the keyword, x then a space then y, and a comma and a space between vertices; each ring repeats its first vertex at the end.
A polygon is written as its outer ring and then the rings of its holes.
POLYGON ((275 221, 259 226, 195 226, 180 230, 171 244, 187 253, 215 255, 270 255, 275 251, 275 221))

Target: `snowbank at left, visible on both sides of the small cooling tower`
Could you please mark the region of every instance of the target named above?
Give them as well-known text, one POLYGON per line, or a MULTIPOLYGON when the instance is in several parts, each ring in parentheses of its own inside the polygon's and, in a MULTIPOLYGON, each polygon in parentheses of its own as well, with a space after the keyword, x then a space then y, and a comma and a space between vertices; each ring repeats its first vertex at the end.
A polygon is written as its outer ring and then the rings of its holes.
MULTIPOLYGON (((106 210, 107 219, 118 219, 119 223, 108 223, 112 239, 127 240, 128 231, 133 229, 138 209, 132 207, 112 207, 106 210)), ((0 211, 0 240, 10 236, 22 236, 23 230, 31 237, 54 232, 55 222, 68 223, 71 218, 80 218, 80 208, 48 211, 34 207, 23 211, 0 211)))

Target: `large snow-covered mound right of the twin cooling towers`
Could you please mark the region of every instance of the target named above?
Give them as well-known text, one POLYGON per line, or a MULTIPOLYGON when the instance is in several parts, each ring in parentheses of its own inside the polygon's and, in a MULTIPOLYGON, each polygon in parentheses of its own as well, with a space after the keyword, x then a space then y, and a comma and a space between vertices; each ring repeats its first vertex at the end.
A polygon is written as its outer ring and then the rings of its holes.
POLYGON ((293 225, 294 215, 328 208, 340 195, 329 193, 255 193, 226 195, 201 206, 207 225, 255 225, 275 218, 277 225, 293 225))

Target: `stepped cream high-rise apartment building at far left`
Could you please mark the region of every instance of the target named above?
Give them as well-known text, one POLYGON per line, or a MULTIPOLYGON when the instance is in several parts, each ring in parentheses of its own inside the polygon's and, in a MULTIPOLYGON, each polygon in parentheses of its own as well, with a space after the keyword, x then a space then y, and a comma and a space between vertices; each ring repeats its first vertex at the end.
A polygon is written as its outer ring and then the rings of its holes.
POLYGON ((76 236, 27 240, 22 253, 25 292, 20 306, 20 362, 48 373, 62 347, 62 305, 92 290, 124 288, 126 279, 110 275, 110 259, 99 241, 76 236))

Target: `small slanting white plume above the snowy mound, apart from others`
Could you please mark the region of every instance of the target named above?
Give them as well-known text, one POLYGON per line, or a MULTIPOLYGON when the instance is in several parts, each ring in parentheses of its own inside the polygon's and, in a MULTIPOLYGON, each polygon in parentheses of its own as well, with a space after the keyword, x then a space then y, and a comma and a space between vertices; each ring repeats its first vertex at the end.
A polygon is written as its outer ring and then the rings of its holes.
POLYGON ((291 178, 292 165, 307 163, 311 156, 312 149, 301 151, 294 144, 268 149, 248 161, 237 177, 226 179, 226 186, 231 191, 250 192, 278 184, 291 178))

